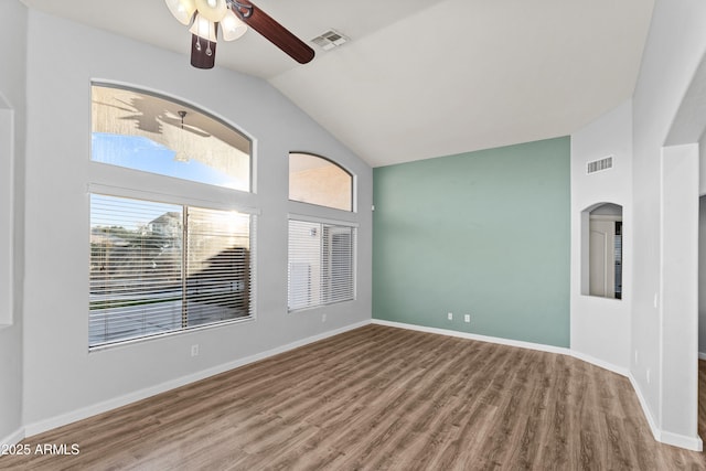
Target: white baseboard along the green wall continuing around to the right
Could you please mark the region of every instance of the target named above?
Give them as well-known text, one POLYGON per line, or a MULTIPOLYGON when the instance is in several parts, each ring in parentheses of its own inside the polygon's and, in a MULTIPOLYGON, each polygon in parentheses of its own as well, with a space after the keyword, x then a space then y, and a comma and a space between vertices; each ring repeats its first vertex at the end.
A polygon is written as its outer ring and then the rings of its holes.
MULTIPOLYGON (((570 349, 564 349, 560 346, 543 345, 543 344, 522 342, 516 340, 478 335, 478 334, 472 334, 467 332, 457 332, 457 331, 451 331, 446 329, 427 328, 422 325, 406 324, 402 322, 391 322, 391 321, 384 321, 379 319, 373 319, 372 323, 378 324, 378 325, 395 327, 399 329, 415 330, 419 332, 429 332, 429 333, 437 333, 441 335, 458 336, 461 339, 478 340, 481 342, 499 343, 501 345, 511 345, 511 346, 518 346, 522 349, 538 350, 542 352, 558 353, 561 355, 569 355, 569 356, 574 356, 575 358, 581 360, 584 362, 590 363, 592 365, 599 366, 603 370, 608 370, 610 372, 617 373, 621 376, 625 376, 628 379, 630 379, 632 389, 635 392, 635 395, 638 396, 638 400, 640 402, 640 406, 642 407, 642 413, 648 419, 648 424, 650 425, 650 430, 652 431, 652 436, 656 441, 666 443, 666 445, 672 445, 680 448, 685 448, 687 450, 703 451, 704 445, 702 439, 698 436, 687 437, 683 435, 672 433, 670 431, 664 431, 657 427, 656 421, 654 420, 654 417, 652 415, 652 411, 650 410, 650 406, 648 405, 648 402, 642 395, 642 390, 640 389, 640 386, 638 385, 637 381, 634 379, 630 371, 622 366, 617 366, 617 365, 613 365, 612 363, 596 358, 591 355, 586 355, 581 352, 577 352, 570 349)), ((699 352, 699 357, 702 357, 702 355, 704 355, 704 360, 706 360, 706 354, 702 354, 699 352)))

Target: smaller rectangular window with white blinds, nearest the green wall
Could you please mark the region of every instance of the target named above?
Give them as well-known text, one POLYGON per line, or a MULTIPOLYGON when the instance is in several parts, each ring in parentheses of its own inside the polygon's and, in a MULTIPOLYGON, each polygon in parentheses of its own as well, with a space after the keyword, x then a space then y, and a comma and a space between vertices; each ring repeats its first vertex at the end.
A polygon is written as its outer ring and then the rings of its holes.
POLYGON ((289 221, 290 311, 355 299, 356 228, 289 221))

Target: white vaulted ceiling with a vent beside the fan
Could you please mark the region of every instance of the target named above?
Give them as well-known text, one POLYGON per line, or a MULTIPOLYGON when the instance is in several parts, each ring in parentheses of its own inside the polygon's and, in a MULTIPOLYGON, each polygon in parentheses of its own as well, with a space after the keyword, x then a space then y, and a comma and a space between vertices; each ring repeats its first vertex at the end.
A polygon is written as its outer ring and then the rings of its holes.
MULTIPOLYGON (((23 0, 184 54, 162 0, 23 0), (119 7, 118 7, 119 6, 119 7), (116 8, 117 7, 117 8, 116 8), (136 14, 137 13, 137 14, 136 14)), ((269 81, 371 165, 566 136, 632 96, 653 0, 256 0, 304 41, 300 65, 248 31, 217 66, 269 81)))

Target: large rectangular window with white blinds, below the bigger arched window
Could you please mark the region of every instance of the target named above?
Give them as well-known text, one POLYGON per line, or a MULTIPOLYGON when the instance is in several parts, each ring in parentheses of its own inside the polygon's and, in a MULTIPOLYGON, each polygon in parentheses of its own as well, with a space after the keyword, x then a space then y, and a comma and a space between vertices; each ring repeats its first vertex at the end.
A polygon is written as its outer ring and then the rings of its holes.
POLYGON ((90 195, 89 346, 252 317, 253 216, 90 195))

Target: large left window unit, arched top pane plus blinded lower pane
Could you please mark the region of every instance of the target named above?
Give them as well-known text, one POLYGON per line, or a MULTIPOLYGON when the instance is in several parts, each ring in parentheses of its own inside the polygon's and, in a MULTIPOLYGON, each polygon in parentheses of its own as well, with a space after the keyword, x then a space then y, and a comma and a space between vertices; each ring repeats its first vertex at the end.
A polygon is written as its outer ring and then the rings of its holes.
POLYGON ((167 97, 92 100, 89 349, 253 319, 250 141, 167 97))

